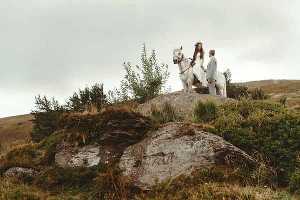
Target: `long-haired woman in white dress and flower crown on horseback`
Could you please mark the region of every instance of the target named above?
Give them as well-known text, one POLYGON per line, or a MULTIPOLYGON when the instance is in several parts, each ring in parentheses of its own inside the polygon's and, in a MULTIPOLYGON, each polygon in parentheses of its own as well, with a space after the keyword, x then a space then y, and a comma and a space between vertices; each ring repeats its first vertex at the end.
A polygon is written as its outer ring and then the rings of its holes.
POLYGON ((202 83, 202 86, 207 86, 207 80, 205 72, 202 70, 203 62, 204 62, 204 50, 202 48, 202 42, 198 41, 195 43, 195 50, 192 59, 195 61, 195 65, 193 66, 193 73, 198 78, 198 80, 202 83))

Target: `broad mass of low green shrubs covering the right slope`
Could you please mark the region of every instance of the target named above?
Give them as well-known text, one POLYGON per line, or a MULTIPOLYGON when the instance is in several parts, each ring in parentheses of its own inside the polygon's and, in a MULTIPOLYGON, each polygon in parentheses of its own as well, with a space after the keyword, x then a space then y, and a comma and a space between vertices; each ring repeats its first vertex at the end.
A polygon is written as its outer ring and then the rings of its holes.
POLYGON ((211 122, 212 132, 248 154, 259 152, 276 167, 278 181, 284 186, 298 166, 299 114, 279 103, 243 98, 220 105, 218 117, 211 122))

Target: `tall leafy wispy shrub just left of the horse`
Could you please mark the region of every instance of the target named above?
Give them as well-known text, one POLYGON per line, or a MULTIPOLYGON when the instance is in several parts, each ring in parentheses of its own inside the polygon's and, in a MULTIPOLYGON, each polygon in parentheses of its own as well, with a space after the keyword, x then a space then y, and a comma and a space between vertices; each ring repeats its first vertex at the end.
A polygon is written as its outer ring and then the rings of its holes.
POLYGON ((121 80, 120 89, 114 88, 108 91, 111 102, 125 102, 132 98, 138 103, 144 103, 170 90, 170 88, 165 88, 165 83, 169 77, 168 65, 162 63, 159 66, 157 64, 154 49, 151 56, 147 58, 145 43, 143 43, 141 53, 141 67, 136 65, 139 72, 135 72, 131 68, 130 62, 124 62, 123 68, 125 69, 125 76, 121 80))

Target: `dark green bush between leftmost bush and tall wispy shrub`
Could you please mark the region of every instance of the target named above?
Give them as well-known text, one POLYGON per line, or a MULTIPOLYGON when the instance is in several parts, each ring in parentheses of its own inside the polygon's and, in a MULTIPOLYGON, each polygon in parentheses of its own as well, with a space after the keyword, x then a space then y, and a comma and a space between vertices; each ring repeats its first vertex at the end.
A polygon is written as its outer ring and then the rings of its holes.
POLYGON ((95 83, 91 88, 85 86, 83 90, 79 88, 78 94, 74 92, 66 101, 66 107, 71 111, 82 111, 85 107, 90 107, 91 105, 95 106, 97 111, 99 111, 107 104, 103 83, 95 83))

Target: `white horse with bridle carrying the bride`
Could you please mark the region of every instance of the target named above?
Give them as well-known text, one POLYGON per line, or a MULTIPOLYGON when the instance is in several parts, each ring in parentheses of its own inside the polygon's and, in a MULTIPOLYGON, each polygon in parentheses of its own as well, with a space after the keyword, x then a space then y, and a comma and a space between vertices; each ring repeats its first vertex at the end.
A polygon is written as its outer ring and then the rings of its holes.
MULTIPOLYGON (((192 85, 196 87, 202 87, 202 83, 197 81, 196 76, 193 74, 192 61, 186 58, 182 53, 182 46, 173 50, 173 62, 178 64, 179 67, 179 78, 182 81, 184 92, 191 92, 192 85)), ((216 70, 216 94, 226 97, 226 79, 225 76, 216 70)), ((207 81, 207 80, 202 80, 207 81)), ((206 85, 206 84, 203 84, 206 85)))

